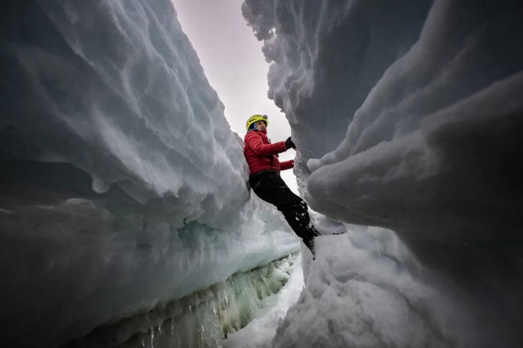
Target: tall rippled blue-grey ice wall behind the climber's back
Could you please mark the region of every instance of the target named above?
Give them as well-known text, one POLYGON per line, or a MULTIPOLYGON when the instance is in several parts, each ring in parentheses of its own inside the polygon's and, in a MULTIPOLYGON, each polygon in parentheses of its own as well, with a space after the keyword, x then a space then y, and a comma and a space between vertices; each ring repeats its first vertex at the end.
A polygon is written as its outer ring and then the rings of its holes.
POLYGON ((2 337, 55 346, 299 249, 157 1, 2 14, 2 337))

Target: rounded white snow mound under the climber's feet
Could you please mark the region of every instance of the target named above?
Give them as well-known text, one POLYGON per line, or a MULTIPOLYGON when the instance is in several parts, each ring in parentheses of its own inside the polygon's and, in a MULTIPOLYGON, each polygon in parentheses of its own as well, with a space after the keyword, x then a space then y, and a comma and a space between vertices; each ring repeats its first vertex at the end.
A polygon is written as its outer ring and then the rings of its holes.
POLYGON ((505 346, 499 318, 484 321, 484 308, 431 274, 392 231, 349 229, 316 245, 321 256, 271 346, 505 346))

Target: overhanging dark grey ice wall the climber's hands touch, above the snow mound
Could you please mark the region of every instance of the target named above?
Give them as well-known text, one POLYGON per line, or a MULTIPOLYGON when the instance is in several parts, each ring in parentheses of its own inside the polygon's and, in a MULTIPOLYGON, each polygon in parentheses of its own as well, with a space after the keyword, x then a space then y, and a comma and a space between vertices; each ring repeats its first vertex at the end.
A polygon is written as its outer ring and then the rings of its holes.
POLYGON ((243 8, 274 62, 269 95, 312 159, 315 210, 434 238, 515 235, 522 6, 429 5, 243 8))

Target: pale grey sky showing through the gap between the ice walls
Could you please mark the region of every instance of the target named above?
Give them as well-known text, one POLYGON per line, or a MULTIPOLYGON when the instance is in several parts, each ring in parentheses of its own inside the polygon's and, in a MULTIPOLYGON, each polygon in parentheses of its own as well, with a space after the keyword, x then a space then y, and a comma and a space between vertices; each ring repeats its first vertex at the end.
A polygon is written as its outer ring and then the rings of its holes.
MULTIPOLYGON (((269 65, 261 53, 262 43, 242 16, 243 0, 173 0, 181 27, 198 53, 211 86, 225 105, 231 129, 245 136, 245 122, 253 114, 269 116, 272 142, 287 139, 287 118, 267 98, 269 65)), ((280 154, 280 161, 294 158, 294 150, 280 154)), ((298 194, 292 170, 281 172, 298 194)))

